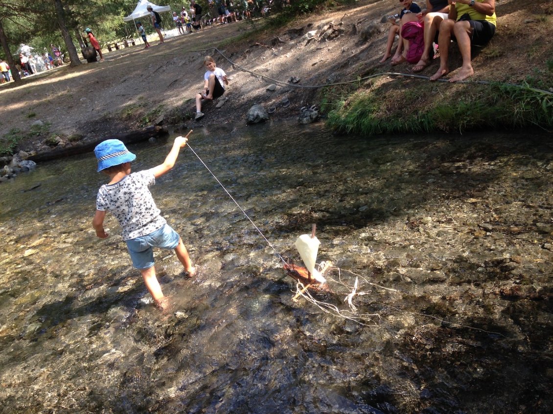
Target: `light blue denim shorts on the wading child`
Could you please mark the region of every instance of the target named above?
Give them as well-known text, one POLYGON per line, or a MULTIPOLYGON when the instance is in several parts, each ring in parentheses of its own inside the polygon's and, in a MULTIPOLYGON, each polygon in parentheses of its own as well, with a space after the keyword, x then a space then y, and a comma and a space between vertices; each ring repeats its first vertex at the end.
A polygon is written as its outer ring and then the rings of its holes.
POLYGON ((159 247, 166 250, 173 250, 179 245, 179 234, 165 224, 161 229, 148 235, 127 240, 127 248, 137 269, 149 269, 154 266, 154 250, 152 247, 159 247))

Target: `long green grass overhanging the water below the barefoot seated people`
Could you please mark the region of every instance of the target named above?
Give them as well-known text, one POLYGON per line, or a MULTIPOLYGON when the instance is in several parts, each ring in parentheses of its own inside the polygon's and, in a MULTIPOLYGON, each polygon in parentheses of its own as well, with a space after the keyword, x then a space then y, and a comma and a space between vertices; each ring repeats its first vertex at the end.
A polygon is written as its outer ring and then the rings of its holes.
POLYGON ((329 94, 325 100, 325 107, 331 108, 327 125, 342 133, 364 136, 553 126, 553 96, 528 85, 467 85, 471 90, 463 100, 440 94, 431 107, 418 109, 426 87, 414 84, 405 88, 399 108, 392 106, 382 88, 343 94, 333 102, 329 102, 329 94))

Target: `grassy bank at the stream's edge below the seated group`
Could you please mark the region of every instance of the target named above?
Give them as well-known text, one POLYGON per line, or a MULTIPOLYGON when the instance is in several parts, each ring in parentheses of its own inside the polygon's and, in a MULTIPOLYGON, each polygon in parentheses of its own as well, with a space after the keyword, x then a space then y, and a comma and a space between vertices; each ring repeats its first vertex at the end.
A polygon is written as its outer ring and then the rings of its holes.
MULTIPOLYGON (((549 62, 548 62, 549 63, 549 62)), ((553 94, 547 73, 523 84, 429 82, 421 77, 374 76, 321 93, 327 124, 341 133, 466 132, 553 128, 553 94), (541 89, 543 88, 543 89, 541 89)))

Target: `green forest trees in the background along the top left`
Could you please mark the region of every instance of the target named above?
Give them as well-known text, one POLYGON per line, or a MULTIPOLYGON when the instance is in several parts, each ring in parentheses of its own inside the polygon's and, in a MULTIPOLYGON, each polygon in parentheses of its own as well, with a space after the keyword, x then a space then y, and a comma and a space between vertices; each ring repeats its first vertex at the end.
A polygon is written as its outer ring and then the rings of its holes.
MULTIPOLYGON (((234 1, 234 6, 239 8, 244 1, 234 1)), ((268 2, 254 0, 254 13, 268 2)), ((323 2, 271 0, 270 6, 282 19, 308 13, 323 2)), ((92 28, 96 37, 105 43, 134 36, 133 22, 124 22, 123 18, 133 12, 137 3, 136 0, 0 0, 0 59, 15 66, 22 45, 44 54, 53 44, 69 57, 71 65, 80 65, 80 49, 88 46, 85 28, 92 28)), ((197 3, 204 11, 208 10, 207 0, 197 0, 197 3)), ((183 6, 188 9, 190 1, 160 1, 158 6, 170 6, 171 10, 178 11, 183 6)), ((165 14, 165 29, 173 28, 173 21, 165 14)), ((153 31, 150 24, 144 26, 147 31, 153 31)), ((13 73, 13 77, 15 82, 20 80, 18 73, 13 73)))

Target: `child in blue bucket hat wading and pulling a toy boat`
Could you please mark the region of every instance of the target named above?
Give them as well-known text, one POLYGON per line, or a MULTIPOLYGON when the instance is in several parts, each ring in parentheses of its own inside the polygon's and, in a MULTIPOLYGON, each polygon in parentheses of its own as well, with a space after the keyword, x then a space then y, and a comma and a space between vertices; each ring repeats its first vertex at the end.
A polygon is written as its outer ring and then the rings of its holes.
POLYGON ((94 148, 98 172, 109 176, 109 183, 100 187, 96 198, 96 214, 92 220, 96 236, 108 236, 103 221, 107 211, 110 211, 122 227, 123 240, 127 243, 133 266, 140 270, 155 304, 161 309, 165 309, 167 304, 155 277, 152 247, 175 250, 189 277, 194 276, 195 268, 182 239, 160 215, 148 186, 155 184, 156 178, 173 168, 186 141, 186 137, 176 137, 163 164, 134 173, 131 173, 131 161, 136 156, 127 150, 123 142, 106 140, 94 148))

